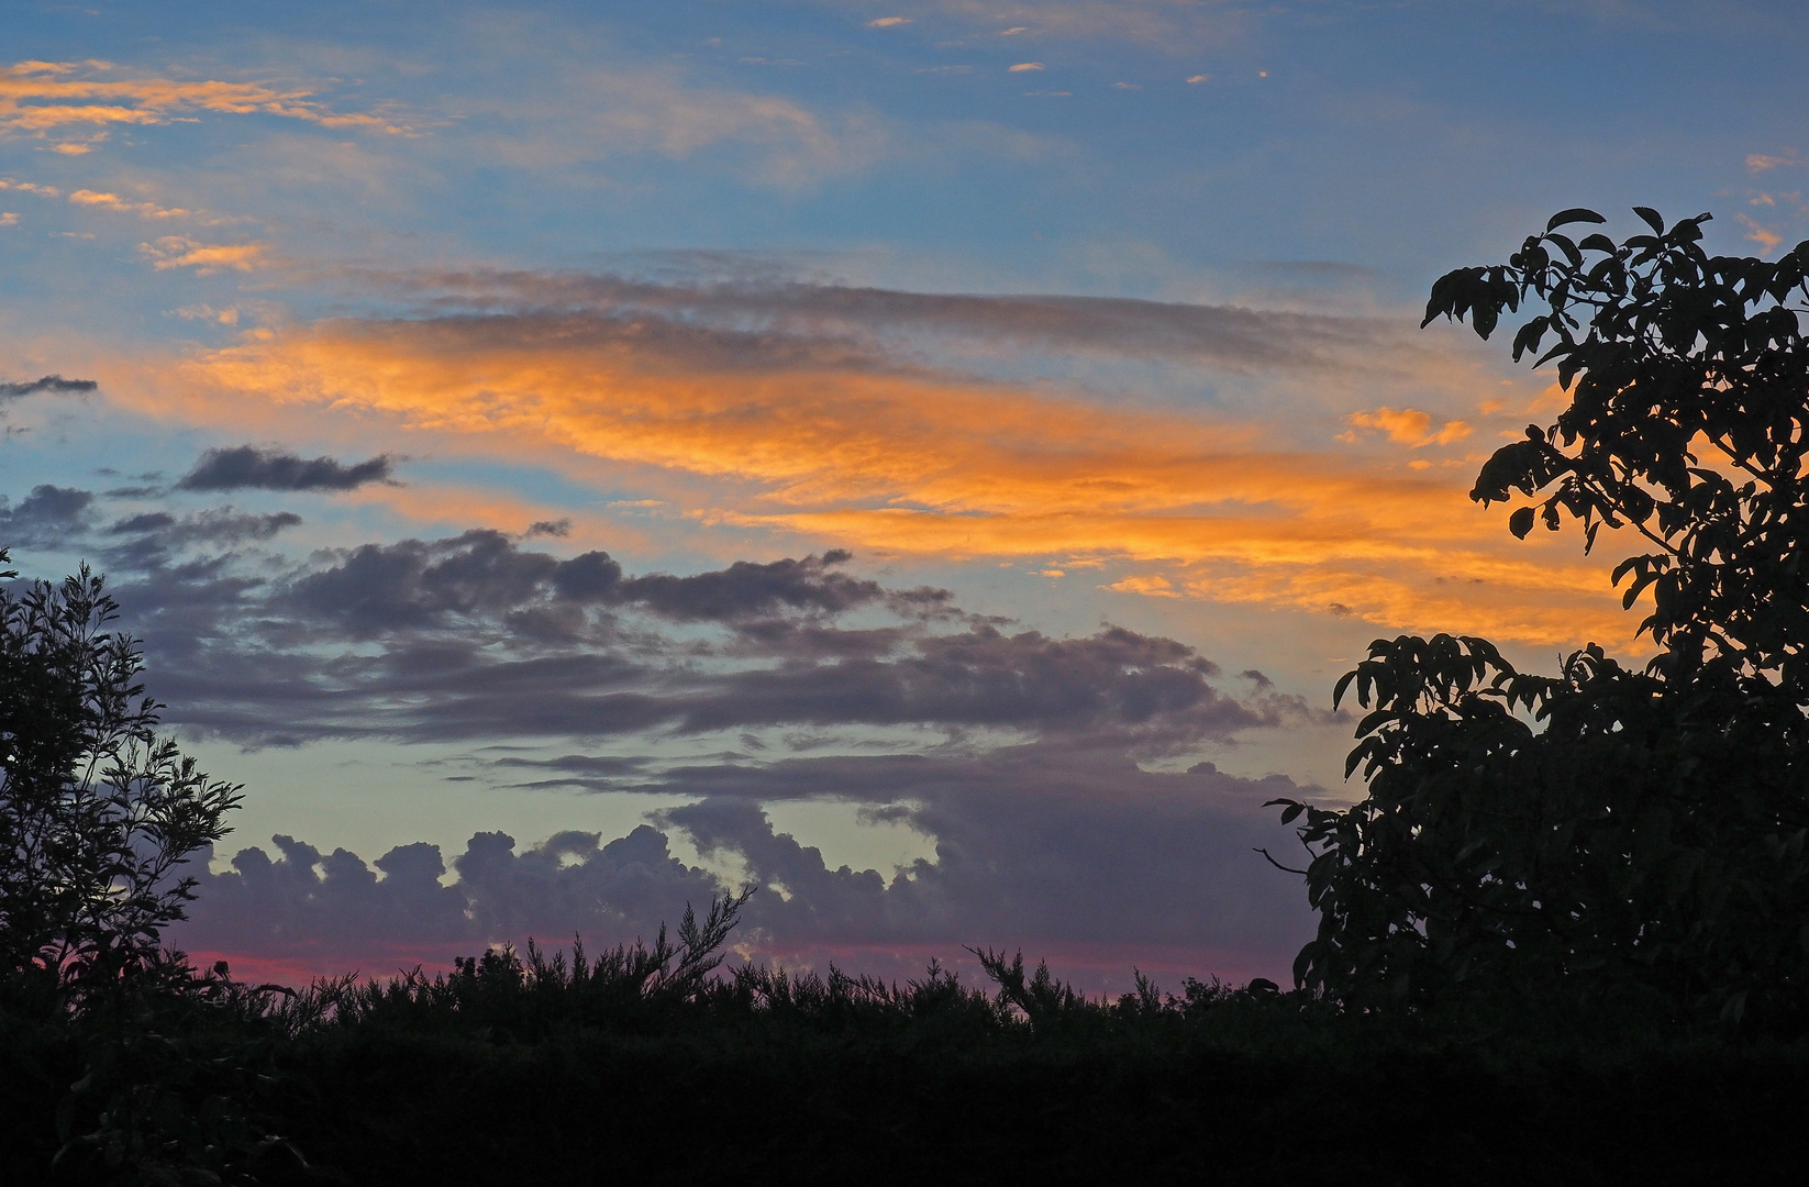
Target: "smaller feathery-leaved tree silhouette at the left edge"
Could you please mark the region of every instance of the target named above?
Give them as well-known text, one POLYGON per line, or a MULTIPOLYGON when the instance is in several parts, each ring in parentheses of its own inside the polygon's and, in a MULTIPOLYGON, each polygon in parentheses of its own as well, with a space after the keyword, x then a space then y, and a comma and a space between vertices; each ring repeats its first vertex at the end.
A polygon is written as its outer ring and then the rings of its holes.
POLYGON ((0 588, 0 975, 96 986, 154 961, 194 897, 177 867, 239 803, 156 736, 116 613, 87 566, 0 588))

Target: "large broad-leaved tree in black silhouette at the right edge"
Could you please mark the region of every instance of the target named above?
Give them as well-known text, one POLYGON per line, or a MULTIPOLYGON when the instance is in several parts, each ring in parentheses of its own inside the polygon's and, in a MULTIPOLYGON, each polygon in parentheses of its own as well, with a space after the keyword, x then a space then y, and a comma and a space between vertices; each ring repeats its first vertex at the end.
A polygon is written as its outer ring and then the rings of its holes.
POLYGON ((1677 1013, 1809 1017, 1809 242, 1710 257, 1708 215, 1581 242, 1556 215, 1507 266, 1438 280, 1425 322, 1483 338, 1538 300, 1514 356, 1556 364, 1570 405, 1483 465, 1471 498, 1509 519, 1603 525, 1648 545, 1614 581, 1659 644, 1644 671, 1601 648, 1559 677, 1482 639, 1378 639, 1337 686, 1366 709, 1346 811, 1297 802, 1319 935, 1301 984, 1346 1006, 1465 986, 1648 995, 1677 1013))

